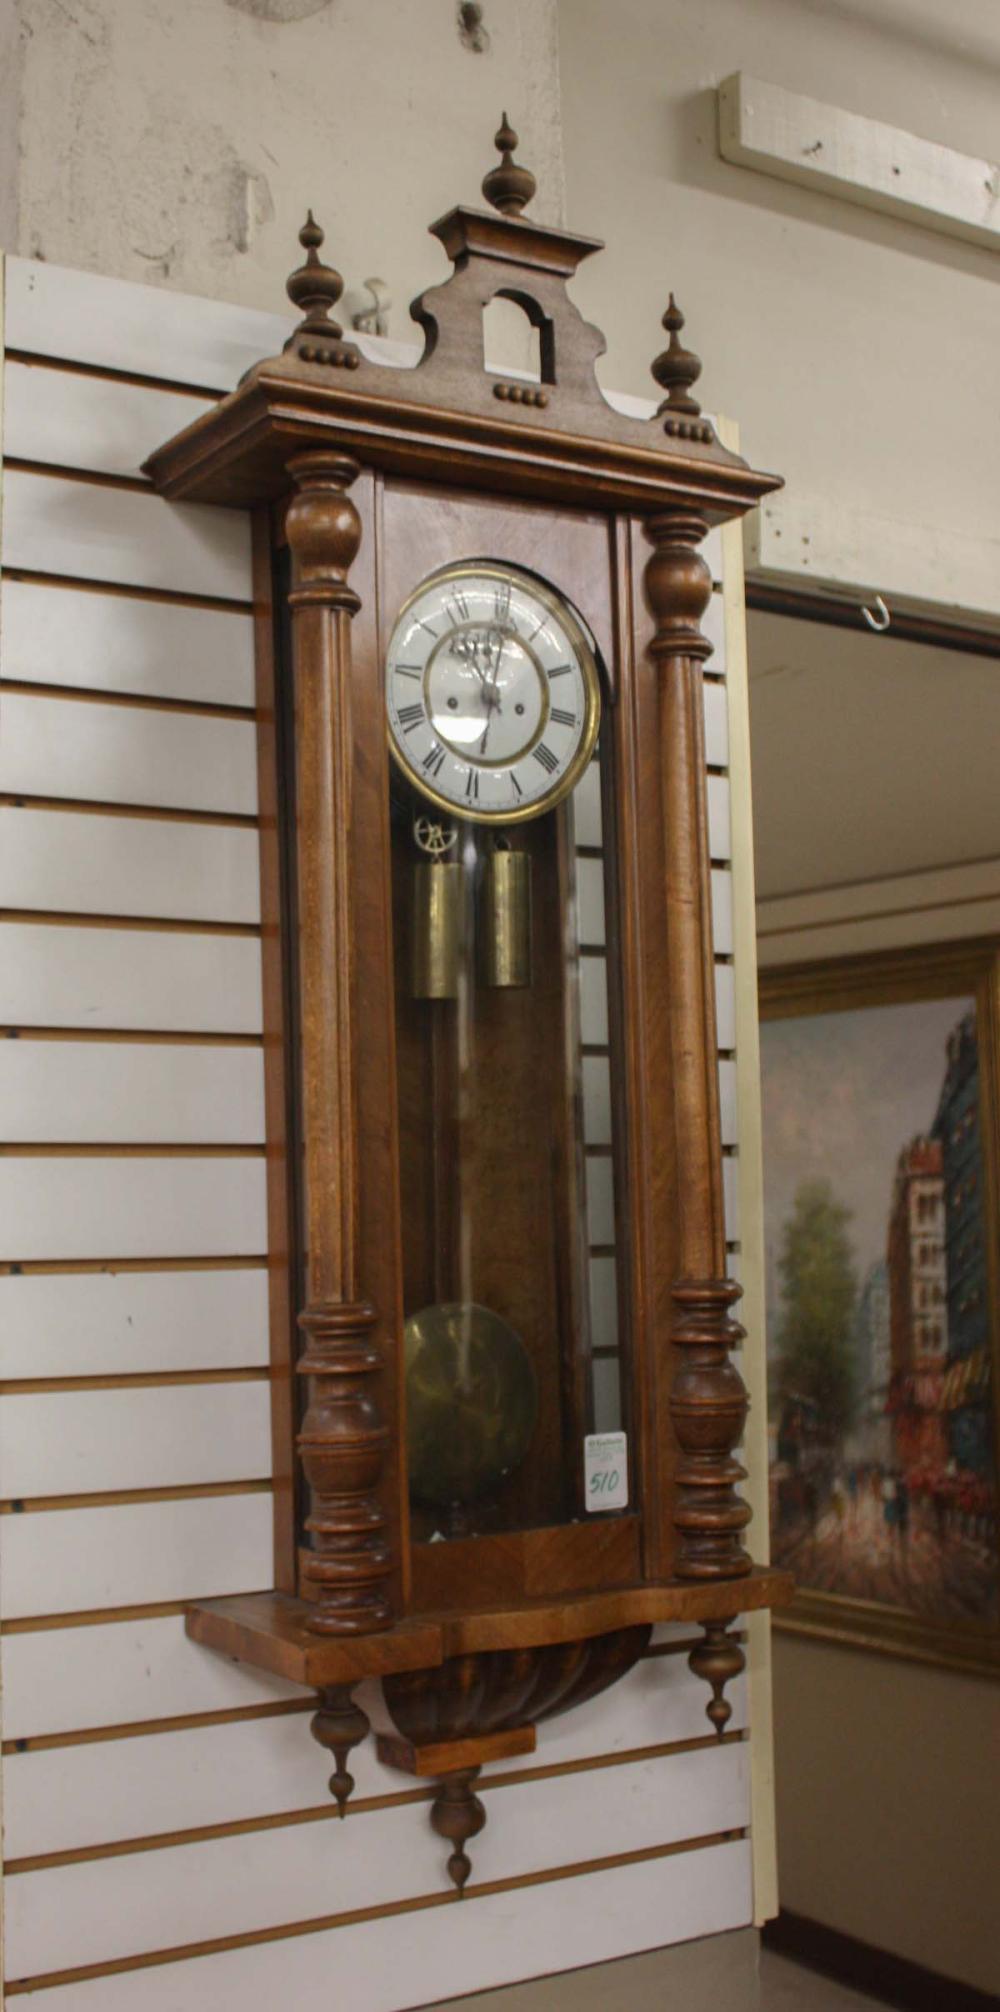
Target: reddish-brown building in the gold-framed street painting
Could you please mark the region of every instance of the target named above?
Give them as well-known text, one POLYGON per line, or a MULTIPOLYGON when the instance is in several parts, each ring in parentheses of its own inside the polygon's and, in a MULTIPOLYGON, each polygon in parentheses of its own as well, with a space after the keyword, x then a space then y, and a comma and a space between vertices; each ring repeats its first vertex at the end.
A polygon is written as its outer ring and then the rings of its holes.
POLYGON ((889 1414, 907 1473, 948 1461, 942 1388, 948 1356, 944 1155, 938 1137, 911 1139, 895 1163, 889 1211, 889 1414))

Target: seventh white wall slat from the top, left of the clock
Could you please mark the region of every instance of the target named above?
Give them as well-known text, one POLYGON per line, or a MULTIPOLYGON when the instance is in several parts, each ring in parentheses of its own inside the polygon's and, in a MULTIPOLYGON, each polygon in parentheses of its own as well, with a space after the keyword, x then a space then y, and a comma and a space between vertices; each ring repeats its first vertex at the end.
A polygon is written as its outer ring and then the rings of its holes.
POLYGON ((4 921, 0 1024, 260 1034, 260 942, 4 921))

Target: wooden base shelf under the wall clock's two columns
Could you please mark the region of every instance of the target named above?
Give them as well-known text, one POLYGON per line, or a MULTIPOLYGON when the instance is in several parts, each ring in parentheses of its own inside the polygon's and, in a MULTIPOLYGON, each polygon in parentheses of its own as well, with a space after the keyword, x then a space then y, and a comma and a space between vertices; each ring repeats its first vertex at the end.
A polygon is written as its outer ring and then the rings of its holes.
POLYGON ((740 1579, 668 1579, 606 1594, 529 1600, 515 1608, 421 1614, 380 1634, 336 1638, 310 1630, 314 1610, 306 1600, 292 1600, 288 1594, 235 1594, 191 1606, 187 1634, 237 1662, 324 1690, 330 1684, 360 1684, 368 1676, 435 1670, 451 1656, 481 1650, 586 1642, 656 1622, 732 1620, 759 1608, 785 1606, 791 1594, 791 1573, 755 1567, 740 1579))

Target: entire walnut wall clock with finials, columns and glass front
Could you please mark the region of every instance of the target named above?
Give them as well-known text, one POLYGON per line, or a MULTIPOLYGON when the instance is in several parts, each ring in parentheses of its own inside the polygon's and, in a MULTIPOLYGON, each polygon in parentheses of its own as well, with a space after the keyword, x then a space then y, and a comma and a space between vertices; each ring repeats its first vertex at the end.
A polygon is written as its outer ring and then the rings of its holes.
POLYGON ((600 243, 521 213, 515 145, 433 225, 416 368, 342 336, 310 215, 284 354, 147 465, 256 511, 272 811, 278 1585, 187 1632, 318 1692, 340 1809, 380 1678, 459 1893, 483 1763, 656 1622, 700 1624, 722 1732, 732 1620, 789 1594, 742 1545, 698 626, 702 537, 777 479, 672 300, 656 416, 604 400, 565 294, 600 243), (485 368, 497 296, 539 382, 485 368))

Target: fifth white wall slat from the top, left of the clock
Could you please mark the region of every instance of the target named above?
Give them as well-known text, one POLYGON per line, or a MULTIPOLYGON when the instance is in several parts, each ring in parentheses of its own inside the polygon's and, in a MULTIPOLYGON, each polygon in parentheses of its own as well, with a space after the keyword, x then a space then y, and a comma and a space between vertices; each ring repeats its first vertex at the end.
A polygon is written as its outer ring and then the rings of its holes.
POLYGON ((18 797, 258 809, 254 720, 4 692, 0 789, 18 797))

